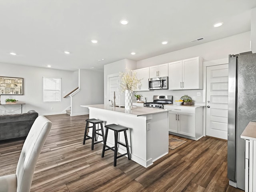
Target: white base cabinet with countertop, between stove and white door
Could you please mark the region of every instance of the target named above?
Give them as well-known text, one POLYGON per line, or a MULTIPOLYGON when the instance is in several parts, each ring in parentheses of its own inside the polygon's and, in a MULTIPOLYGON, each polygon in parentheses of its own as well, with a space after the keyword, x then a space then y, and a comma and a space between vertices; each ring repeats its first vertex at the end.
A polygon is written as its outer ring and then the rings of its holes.
POLYGON ((170 134, 193 140, 203 136, 203 106, 165 105, 168 112, 170 134))

